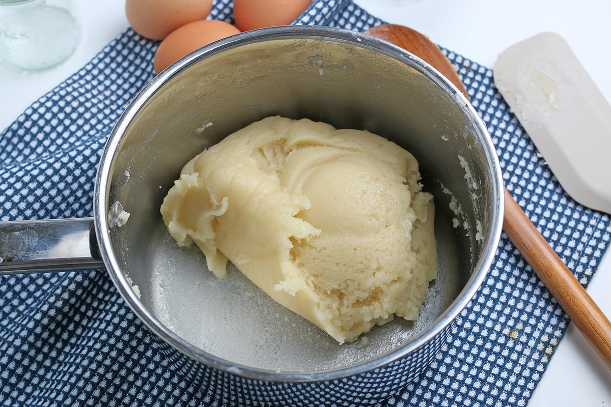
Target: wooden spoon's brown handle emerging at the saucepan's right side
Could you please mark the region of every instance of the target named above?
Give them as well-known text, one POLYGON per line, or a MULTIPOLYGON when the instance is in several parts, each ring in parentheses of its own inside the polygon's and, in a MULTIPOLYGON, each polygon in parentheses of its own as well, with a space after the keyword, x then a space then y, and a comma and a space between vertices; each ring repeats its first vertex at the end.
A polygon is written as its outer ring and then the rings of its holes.
POLYGON ((503 230, 611 369, 611 323, 505 189, 503 230))

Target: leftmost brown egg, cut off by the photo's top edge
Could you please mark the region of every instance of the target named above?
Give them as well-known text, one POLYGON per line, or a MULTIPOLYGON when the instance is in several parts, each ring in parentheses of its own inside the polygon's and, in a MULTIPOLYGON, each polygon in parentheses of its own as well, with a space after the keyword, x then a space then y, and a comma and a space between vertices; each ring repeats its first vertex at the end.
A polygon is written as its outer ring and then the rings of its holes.
POLYGON ((125 16, 142 37, 163 40, 191 21, 204 20, 213 0, 126 0, 125 16))

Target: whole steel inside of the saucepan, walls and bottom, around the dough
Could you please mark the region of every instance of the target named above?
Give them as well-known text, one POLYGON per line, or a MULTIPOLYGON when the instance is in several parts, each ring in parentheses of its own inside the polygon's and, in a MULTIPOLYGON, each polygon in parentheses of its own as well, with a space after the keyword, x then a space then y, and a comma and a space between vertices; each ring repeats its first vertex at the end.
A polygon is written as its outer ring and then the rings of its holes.
POLYGON ((419 62, 387 55, 392 52, 368 41, 255 38, 192 57, 162 76, 163 86, 145 93, 146 103, 128 116, 122 134, 111 136, 120 142, 109 171, 108 206, 119 202, 130 218, 110 237, 120 269, 139 287, 133 308, 196 347, 202 360, 212 355, 278 372, 337 369, 427 335, 434 320, 447 325, 455 317, 444 312, 489 250, 486 236, 496 214, 491 161, 480 142, 485 135, 419 62), (436 202, 440 270, 417 321, 396 318, 371 330, 368 345, 338 345, 235 268, 224 279, 214 277, 197 248, 177 247, 169 236, 159 206, 182 166, 269 115, 367 129, 419 160, 425 190, 436 202))

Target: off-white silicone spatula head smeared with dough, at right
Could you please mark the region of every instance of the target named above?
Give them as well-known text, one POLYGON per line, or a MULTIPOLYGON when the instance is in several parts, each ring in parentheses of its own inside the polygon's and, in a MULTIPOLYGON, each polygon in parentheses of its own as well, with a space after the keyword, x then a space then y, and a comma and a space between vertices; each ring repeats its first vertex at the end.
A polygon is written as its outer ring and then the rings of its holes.
POLYGON ((611 106, 566 41, 544 32, 511 46, 494 82, 565 191, 611 213, 611 106))

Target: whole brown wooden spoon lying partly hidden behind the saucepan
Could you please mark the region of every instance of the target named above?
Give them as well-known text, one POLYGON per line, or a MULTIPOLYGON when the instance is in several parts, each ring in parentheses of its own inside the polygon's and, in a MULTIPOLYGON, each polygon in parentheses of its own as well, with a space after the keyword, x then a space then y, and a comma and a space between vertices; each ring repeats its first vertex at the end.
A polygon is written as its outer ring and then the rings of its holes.
MULTIPOLYGON (((365 34, 400 46, 428 62, 466 97, 467 90, 441 49, 424 35, 397 24, 382 24, 365 34)), ((558 254, 505 189, 503 230, 556 298, 575 326, 611 369, 611 323, 558 254)))

